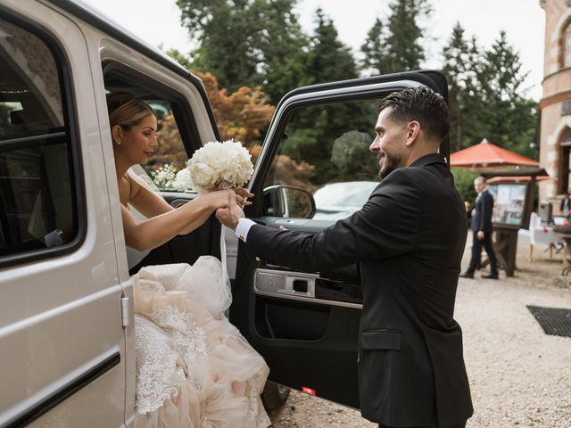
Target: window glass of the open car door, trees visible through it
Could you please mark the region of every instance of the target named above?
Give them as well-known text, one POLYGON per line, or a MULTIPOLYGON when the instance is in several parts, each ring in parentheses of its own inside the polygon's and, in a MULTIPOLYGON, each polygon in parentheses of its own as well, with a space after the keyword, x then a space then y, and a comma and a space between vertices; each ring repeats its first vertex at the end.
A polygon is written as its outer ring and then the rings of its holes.
POLYGON ((294 111, 264 182, 313 193, 314 219, 339 219, 360 210, 378 185, 374 138, 380 100, 309 105, 294 111))

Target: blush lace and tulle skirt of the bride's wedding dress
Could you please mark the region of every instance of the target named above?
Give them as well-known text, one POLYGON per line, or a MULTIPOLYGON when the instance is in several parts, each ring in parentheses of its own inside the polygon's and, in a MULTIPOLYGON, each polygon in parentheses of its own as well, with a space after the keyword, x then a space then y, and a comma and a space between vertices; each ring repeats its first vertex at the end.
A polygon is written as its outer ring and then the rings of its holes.
POLYGON ((213 257, 134 276, 136 428, 269 426, 269 368, 224 316, 227 278, 213 257))

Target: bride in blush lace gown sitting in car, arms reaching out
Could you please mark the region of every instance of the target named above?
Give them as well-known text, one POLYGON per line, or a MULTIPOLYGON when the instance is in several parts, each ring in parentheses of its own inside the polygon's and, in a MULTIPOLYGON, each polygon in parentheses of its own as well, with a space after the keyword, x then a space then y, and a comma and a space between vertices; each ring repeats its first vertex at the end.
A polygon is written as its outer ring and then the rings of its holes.
MULTIPOLYGON (((201 226, 228 197, 245 189, 205 193, 173 209, 128 173, 157 147, 157 119, 144 102, 107 95, 125 241, 145 251, 201 226), (149 218, 139 223, 128 204, 149 218)), ((137 396, 135 426, 262 428, 269 418, 260 394, 269 373, 263 358, 228 322, 228 276, 218 259, 193 266, 142 268, 133 277, 137 396)))

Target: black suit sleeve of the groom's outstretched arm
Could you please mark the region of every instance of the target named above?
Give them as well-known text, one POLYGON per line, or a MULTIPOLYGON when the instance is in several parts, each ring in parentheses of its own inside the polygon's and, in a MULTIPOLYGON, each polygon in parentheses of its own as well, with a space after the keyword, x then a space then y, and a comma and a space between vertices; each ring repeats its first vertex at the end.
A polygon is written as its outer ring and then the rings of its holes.
POLYGON ((421 210, 418 182, 404 169, 385 178, 363 208, 319 234, 252 226, 245 243, 251 257, 309 271, 338 268, 410 251, 421 210))

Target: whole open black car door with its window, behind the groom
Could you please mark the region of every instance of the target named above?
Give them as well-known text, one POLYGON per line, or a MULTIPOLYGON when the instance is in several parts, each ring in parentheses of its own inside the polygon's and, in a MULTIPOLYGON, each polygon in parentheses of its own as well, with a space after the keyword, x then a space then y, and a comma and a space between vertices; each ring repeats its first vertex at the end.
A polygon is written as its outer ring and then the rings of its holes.
MULTIPOLYGON (((391 92, 419 85, 447 97, 446 79, 437 71, 307 86, 285 95, 255 165, 255 197, 246 216, 318 233, 359 210, 378 182, 378 160, 368 152, 378 105, 391 92)), ((445 142, 441 153, 448 158, 448 152, 445 142)), ((358 266, 299 272, 259 256, 249 259, 239 244, 232 323, 266 359, 270 380, 359 408, 358 266)))

